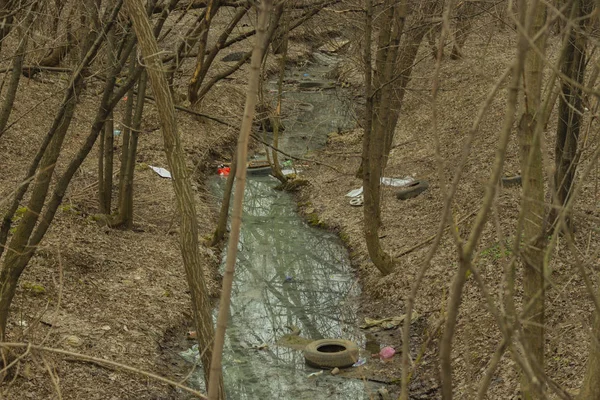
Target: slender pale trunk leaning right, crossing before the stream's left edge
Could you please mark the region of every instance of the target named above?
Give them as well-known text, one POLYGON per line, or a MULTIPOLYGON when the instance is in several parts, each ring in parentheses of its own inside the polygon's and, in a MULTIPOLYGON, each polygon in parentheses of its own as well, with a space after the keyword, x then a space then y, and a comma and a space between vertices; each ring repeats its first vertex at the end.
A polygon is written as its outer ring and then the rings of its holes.
POLYGON ((248 138, 252 130, 254 112, 258 100, 258 85, 260 79, 260 66, 262 64, 263 54, 267 46, 266 27, 271 10, 271 0, 263 0, 260 4, 258 16, 258 26, 252 51, 252 61, 250 63, 250 74, 248 76, 248 92, 246 95, 246 106, 244 108, 244 117, 240 128, 240 136, 237 145, 237 169, 235 198, 233 199, 231 233, 227 247, 227 257, 225 260, 225 274, 223 277, 223 290, 221 291, 221 300, 219 303, 219 315, 217 317, 217 332, 215 334, 215 344, 212 352, 212 361, 210 364, 210 381, 208 384, 208 398, 217 400, 220 397, 218 382, 222 380, 222 357, 223 345, 225 343, 225 331, 227 330, 227 321, 229 320, 229 307, 231 304, 231 288, 233 285, 233 274, 237 258, 238 242, 240 240, 240 228, 242 224, 242 211, 244 201, 244 188, 246 186, 246 159, 248 157, 248 138))

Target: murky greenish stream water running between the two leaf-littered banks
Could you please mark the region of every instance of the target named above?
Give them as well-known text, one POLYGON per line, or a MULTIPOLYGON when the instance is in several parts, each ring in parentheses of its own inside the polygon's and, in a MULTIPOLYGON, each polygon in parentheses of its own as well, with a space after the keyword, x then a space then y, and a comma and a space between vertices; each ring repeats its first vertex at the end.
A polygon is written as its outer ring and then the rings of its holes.
MULTIPOLYGON (((286 129, 280 145, 296 155, 323 146, 328 133, 353 124, 340 89, 296 89, 294 80, 324 81, 332 59, 321 55, 316 60, 288 72, 291 83, 286 84, 283 102, 286 129)), ((270 91, 275 87, 275 82, 269 82, 270 91)), ((222 196, 224 181, 219 177, 211 181, 217 198, 222 196)), ((356 328, 359 288, 346 249, 337 236, 307 225, 296 212, 294 198, 273 189, 277 183, 270 176, 249 176, 246 184, 223 360, 227 397, 369 398, 376 384, 328 371, 309 377, 319 370, 305 365, 302 352, 277 344, 295 328, 313 340, 344 338, 361 347, 365 341, 356 328)), ((182 356, 197 361, 197 348, 182 356)), ((201 371, 194 380, 202 387, 201 371)))

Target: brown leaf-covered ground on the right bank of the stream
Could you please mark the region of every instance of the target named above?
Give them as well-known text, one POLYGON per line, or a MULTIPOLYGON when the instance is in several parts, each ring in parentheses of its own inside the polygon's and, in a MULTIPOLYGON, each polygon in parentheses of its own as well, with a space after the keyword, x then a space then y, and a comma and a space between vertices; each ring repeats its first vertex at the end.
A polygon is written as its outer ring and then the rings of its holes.
MULTIPOLYGON (((411 176, 425 179, 429 189, 422 195, 401 201, 396 199, 398 189, 384 187, 382 222, 380 232, 383 249, 395 259, 395 270, 382 276, 371 263, 363 233, 363 209, 349 204, 345 195, 362 186, 355 177, 361 161, 362 132, 357 129, 332 134, 326 149, 314 157, 325 165, 312 165, 304 172, 310 185, 301 193, 301 208, 305 213, 317 213, 319 222, 337 231, 351 251, 353 265, 362 287, 362 316, 387 318, 403 315, 405 301, 430 249, 431 237, 438 232, 444 196, 442 186, 448 185, 460 159, 463 142, 467 137, 481 105, 498 78, 510 66, 515 49, 515 34, 498 28, 487 17, 476 20, 465 48, 464 57, 451 60, 446 49, 439 75, 440 91, 437 98, 437 121, 432 119, 431 87, 435 79, 435 60, 428 46, 422 45, 417 56, 412 80, 406 94, 395 132, 394 147, 386 177, 411 176), (434 130, 435 129, 435 130, 434 130), (443 164, 436 161, 436 138, 443 164), (440 171, 441 176, 440 176, 440 171)), ((556 59, 560 37, 549 40, 549 58, 556 59)), ((362 67, 346 59, 341 68, 341 79, 361 81, 356 71, 362 67)), ((453 218, 461 221, 459 234, 466 239, 481 200, 495 158, 498 134, 505 117, 506 84, 486 112, 470 157, 459 182, 452 204, 453 218)), ((357 104, 364 104, 357 95, 357 104)), ((556 109, 550 119, 544 140, 544 168, 546 193, 548 177, 553 168, 553 149, 556 132, 556 109)), ((585 123, 590 139, 595 136, 597 122, 585 123), (591 129, 590 129, 591 127, 591 129)), ((587 135, 587 133, 586 133, 587 135)), ((579 171, 589 165, 590 151, 585 150, 579 171)), ((513 128, 503 173, 518 175, 519 149, 513 128)), ((596 260, 598 251, 598 191, 595 186, 597 171, 583 183, 583 190, 575 205, 576 244, 579 256, 596 260)), ((547 203, 549 196, 546 196, 547 203)), ((479 242, 476 266, 488 285, 497 306, 501 304, 501 277, 512 253, 521 188, 500 187, 496 196, 494 213, 485 225, 479 242)), ((572 254, 563 241, 552 254, 552 287, 547 291, 546 302, 546 373, 568 393, 575 394, 583 377, 589 346, 589 329, 593 304, 572 254)), ((598 267, 586 263, 586 272, 595 281, 598 267)), ((457 270, 457 251, 448 231, 435 252, 431 266, 424 275, 418 291, 415 311, 418 318, 411 330, 411 357, 419 359, 411 382, 411 398, 433 399, 441 397, 438 390, 438 349, 440 318, 446 309, 451 280, 457 270), (418 353, 424 351, 423 357, 418 353)), ((520 279, 521 269, 517 266, 520 279)), ((519 284, 518 284, 519 285, 519 284)), ((520 287, 520 286, 519 286, 520 287)), ((517 296, 521 290, 517 290, 517 296)), ((517 299, 520 306, 520 297, 517 299)), ((376 330, 373 335, 381 344, 393 346, 397 355, 393 362, 381 365, 389 376, 400 377, 400 329, 376 330)), ((501 334, 486 307, 485 300, 473 278, 467 280, 460 308, 458 328, 453 343, 453 385, 455 397, 474 398, 488 362, 500 345, 501 334)), ((488 392, 489 399, 517 399, 518 374, 513 360, 504 355, 494 375, 488 392)), ((381 371, 380 371, 381 373, 381 371)), ((399 388, 392 392, 397 393, 399 388)))

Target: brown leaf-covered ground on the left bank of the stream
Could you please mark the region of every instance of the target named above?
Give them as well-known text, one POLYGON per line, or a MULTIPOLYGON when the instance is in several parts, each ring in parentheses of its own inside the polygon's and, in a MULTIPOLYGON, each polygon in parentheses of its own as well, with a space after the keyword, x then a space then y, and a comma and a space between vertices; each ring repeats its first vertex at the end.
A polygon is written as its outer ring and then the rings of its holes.
MULTIPOLYGON (((216 28, 228 21, 217 18, 216 28)), ((249 24, 252 21, 247 21, 249 24)), ((247 29, 247 28, 246 28, 247 29)), ((175 38, 176 31, 175 32, 175 38)), ((231 66, 220 61, 229 53, 247 51, 245 40, 222 51, 209 77, 231 66)), ((290 49, 290 60, 305 59, 304 42, 290 49)), ((194 59, 183 65, 176 90, 185 93, 194 59)), ((271 57, 267 72, 276 70, 271 57)), ((249 65, 218 83, 196 110, 239 126, 249 65)), ((208 79, 207 78, 207 79, 208 79)), ((10 122, 0 140, 0 212, 25 176, 60 104, 68 75, 42 73, 22 78, 10 122)), ((103 82, 91 78, 80 96, 65 139, 53 183, 87 137, 97 112, 103 82)), ((151 94, 151 90, 150 90, 151 94)), ((115 129, 122 130, 125 102, 115 110, 115 129)), ((220 199, 205 188, 216 174, 216 162, 230 159, 239 130, 210 119, 177 111, 179 133, 194 171, 196 212, 201 240, 212 233, 220 199)), ((175 381, 183 378, 172 361, 178 357, 165 345, 172 336, 185 338, 193 329, 190 298, 179 250, 178 217, 172 182, 149 166, 168 169, 158 114, 147 101, 136 160, 134 229, 110 229, 98 223, 98 151, 92 150, 73 178, 46 237, 23 273, 13 301, 7 340, 29 342, 110 360, 175 381)), ((118 174, 121 137, 115 141, 118 174)), ((52 187, 51 187, 52 190, 52 187)), ((114 178, 113 207, 118 192, 114 178)), ((24 200, 23 206, 26 205, 24 200)), ((219 295, 218 249, 201 246, 209 295, 219 295)), ((192 342, 193 343, 193 342, 192 342)), ((73 356, 33 352, 24 357, 15 379, 0 388, 7 399, 167 399, 178 394, 168 385, 142 375, 73 356)))

